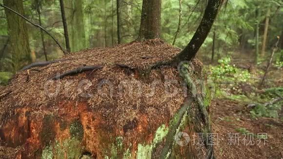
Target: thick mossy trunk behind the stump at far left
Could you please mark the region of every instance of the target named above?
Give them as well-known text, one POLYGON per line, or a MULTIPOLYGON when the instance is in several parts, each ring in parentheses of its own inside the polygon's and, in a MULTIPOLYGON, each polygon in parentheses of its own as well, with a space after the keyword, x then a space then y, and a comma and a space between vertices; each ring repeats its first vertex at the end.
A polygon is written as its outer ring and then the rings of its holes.
MULTIPOLYGON (((3 0, 5 6, 24 15, 22 0, 3 0)), ((31 62, 31 51, 25 20, 5 8, 14 69, 31 62)))

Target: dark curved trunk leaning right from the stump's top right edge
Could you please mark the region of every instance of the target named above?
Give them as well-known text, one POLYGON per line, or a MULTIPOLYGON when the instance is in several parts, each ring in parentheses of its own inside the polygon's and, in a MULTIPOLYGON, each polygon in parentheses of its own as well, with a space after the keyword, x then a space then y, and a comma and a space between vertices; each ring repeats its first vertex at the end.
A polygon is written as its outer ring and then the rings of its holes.
POLYGON ((202 21, 195 32, 192 40, 188 43, 188 45, 175 57, 174 63, 178 65, 183 60, 192 60, 199 49, 202 46, 202 43, 208 36, 210 29, 214 20, 217 17, 218 10, 222 0, 209 0, 204 11, 204 15, 202 21))

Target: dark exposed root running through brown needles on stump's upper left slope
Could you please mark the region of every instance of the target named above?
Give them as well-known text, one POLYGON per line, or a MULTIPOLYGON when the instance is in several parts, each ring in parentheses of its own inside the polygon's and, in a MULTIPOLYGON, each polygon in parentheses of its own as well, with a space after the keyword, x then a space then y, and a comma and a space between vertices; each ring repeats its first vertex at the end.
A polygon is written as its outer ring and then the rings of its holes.
POLYGON ((81 73, 81 72, 96 70, 96 69, 100 69, 102 67, 103 67, 102 65, 83 66, 83 67, 80 67, 80 68, 77 68, 77 69, 74 69, 74 70, 64 72, 62 74, 58 74, 58 75, 56 75, 56 76, 54 76, 54 77, 52 77, 48 80, 59 80, 59 79, 62 79, 63 77, 65 77, 65 76, 76 75, 76 74, 81 73))

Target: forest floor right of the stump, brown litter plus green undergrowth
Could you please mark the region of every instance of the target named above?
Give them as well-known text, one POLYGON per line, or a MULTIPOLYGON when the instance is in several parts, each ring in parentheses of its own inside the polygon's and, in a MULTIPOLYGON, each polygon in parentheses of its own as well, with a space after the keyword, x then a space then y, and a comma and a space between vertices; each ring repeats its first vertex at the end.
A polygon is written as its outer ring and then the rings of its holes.
MULTIPOLYGON (((221 65, 222 68, 238 67, 248 70, 250 74, 244 82, 237 82, 237 77, 232 78, 234 83, 228 88, 225 82, 228 79, 231 81, 230 75, 221 75, 225 76, 220 80, 221 84, 216 83, 216 92, 221 92, 215 93, 211 102, 216 159, 283 159, 283 102, 279 102, 277 108, 271 104, 276 114, 273 117, 269 117, 272 115, 267 114, 268 111, 261 112, 259 105, 257 108, 248 107, 251 103, 263 104, 283 96, 282 66, 278 68, 273 65, 264 85, 259 86, 269 59, 267 56, 257 66, 253 64, 252 56, 243 53, 234 54, 228 66, 216 62, 211 65, 209 58, 202 60, 209 68, 221 65), (267 97, 267 90, 280 91, 267 97)), ((213 69, 209 76, 213 76, 213 69)))

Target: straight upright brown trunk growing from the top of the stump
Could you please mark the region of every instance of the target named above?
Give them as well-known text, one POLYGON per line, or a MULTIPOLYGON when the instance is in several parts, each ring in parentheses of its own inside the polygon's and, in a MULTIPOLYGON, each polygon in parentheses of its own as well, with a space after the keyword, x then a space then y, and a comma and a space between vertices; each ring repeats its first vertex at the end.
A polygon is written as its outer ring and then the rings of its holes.
POLYGON ((138 40, 160 38, 161 0, 142 0, 141 26, 138 40))

